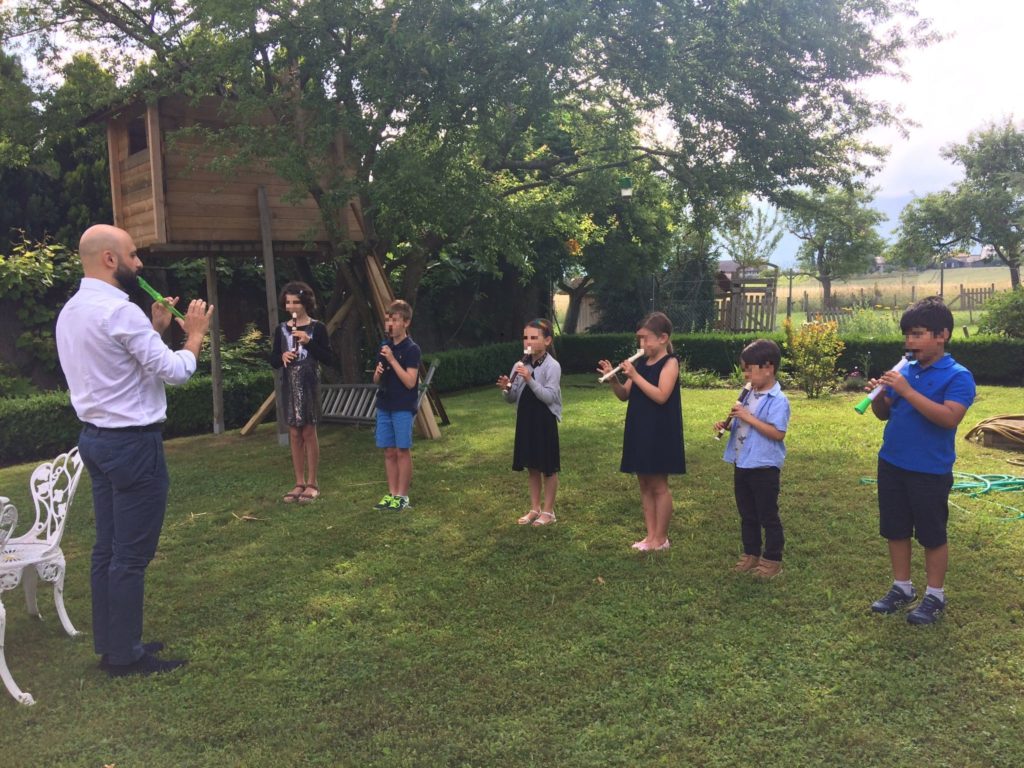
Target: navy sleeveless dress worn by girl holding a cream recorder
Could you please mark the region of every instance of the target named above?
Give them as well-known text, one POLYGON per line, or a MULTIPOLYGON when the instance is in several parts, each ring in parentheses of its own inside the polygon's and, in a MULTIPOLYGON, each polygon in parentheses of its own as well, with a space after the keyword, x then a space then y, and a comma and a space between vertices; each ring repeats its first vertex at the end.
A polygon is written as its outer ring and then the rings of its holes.
MULTIPOLYGON (((653 365, 647 365, 644 357, 637 360, 635 368, 644 380, 657 386, 662 369, 670 357, 667 354, 653 365)), ((620 470, 641 475, 685 474, 683 406, 678 382, 662 406, 641 392, 636 383, 630 387, 620 470)))

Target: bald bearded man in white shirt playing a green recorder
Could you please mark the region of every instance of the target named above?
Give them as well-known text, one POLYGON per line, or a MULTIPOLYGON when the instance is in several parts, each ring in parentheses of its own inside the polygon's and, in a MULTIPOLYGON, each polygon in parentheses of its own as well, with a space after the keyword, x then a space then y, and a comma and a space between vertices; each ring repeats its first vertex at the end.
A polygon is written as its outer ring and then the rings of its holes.
POLYGON ((185 663, 158 658, 162 643, 142 643, 145 568, 157 551, 170 485, 164 387, 196 372, 213 307, 200 299, 189 303, 177 321, 184 346, 172 351, 161 338, 170 310, 155 303, 151 321, 128 299, 142 268, 131 236, 96 224, 82 234, 79 256, 85 276, 60 310, 56 340, 92 478, 93 645, 111 677, 168 672, 185 663))

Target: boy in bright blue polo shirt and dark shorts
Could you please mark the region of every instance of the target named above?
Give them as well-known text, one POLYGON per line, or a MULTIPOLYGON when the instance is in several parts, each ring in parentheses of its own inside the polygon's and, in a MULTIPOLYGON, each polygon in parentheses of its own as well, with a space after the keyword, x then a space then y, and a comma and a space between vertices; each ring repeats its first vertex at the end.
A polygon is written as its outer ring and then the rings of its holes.
POLYGON ((956 460, 956 427, 974 402, 974 376, 946 353, 952 312, 930 296, 903 312, 900 330, 913 361, 868 382, 886 389, 871 411, 886 423, 879 451, 879 531, 889 540, 893 586, 871 603, 895 613, 916 598, 910 583, 911 536, 925 548, 928 588, 906 614, 910 624, 932 624, 946 607, 946 523, 956 460))

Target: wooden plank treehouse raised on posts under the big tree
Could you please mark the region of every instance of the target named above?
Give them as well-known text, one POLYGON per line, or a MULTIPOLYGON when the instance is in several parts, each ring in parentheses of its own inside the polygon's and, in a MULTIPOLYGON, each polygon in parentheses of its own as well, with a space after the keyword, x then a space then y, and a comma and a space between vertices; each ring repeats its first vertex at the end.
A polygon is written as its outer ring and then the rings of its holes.
MULTIPOLYGON (((312 197, 296 200, 292 185, 262 163, 239 166, 222 162, 223 148, 207 141, 204 134, 231 125, 232 110, 224 99, 211 96, 196 102, 167 96, 150 103, 136 100, 106 110, 92 120, 106 124, 115 225, 131 234, 143 255, 205 258, 207 296, 215 306, 214 259, 262 255, 272 334, 279 309, 274 257, 316 258, 328 251, 323 218, 312 197)), ((340 138, 335 142, 334 162, 345 166, 345 146, 340 138)), ((357 200, 343 209, 339 223, 350 240, 364 239, 357 200)), ((384 309, 394 296, 376 258, 368 256, 366 268, 370 285, 364 287, 365 293, 383 324, 384 309)), ((352 308, 353 299, 349 298, 328 318, 328 330, 336 329, 352 308)), ((224 429, 219 342, 215 312, 211 326, 215 433, 224 429)), ((422 398, 416 423, 421 434, 437 437, 431 399, 422 398)), ((244 433, 262 421, 273 401, 270 395, 244 433)), ((280 414, 279 436, 287 442, 280 414)))

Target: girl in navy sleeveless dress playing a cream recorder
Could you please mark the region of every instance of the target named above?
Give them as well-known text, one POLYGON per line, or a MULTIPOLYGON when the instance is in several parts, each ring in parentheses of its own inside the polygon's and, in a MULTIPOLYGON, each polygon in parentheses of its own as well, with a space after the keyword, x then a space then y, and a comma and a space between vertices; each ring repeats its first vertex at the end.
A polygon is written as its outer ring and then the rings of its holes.
MULTIPOLYGON (((640 483, 647 536, 633 544, 641 552, 667 550, 672 519, 669 475, 686 472, 683 453, 683 409, 679 396, 679 359, 672 351, 672 321, 664 312, 648 314, 637 331, 644 356, 634 366, 622 364, 622 381, 612 377, 611 389, 628 400, 623 436, 623 472, 636 474, 640 483)), ((612 371, 608 360, 598 372, 612 371)))

